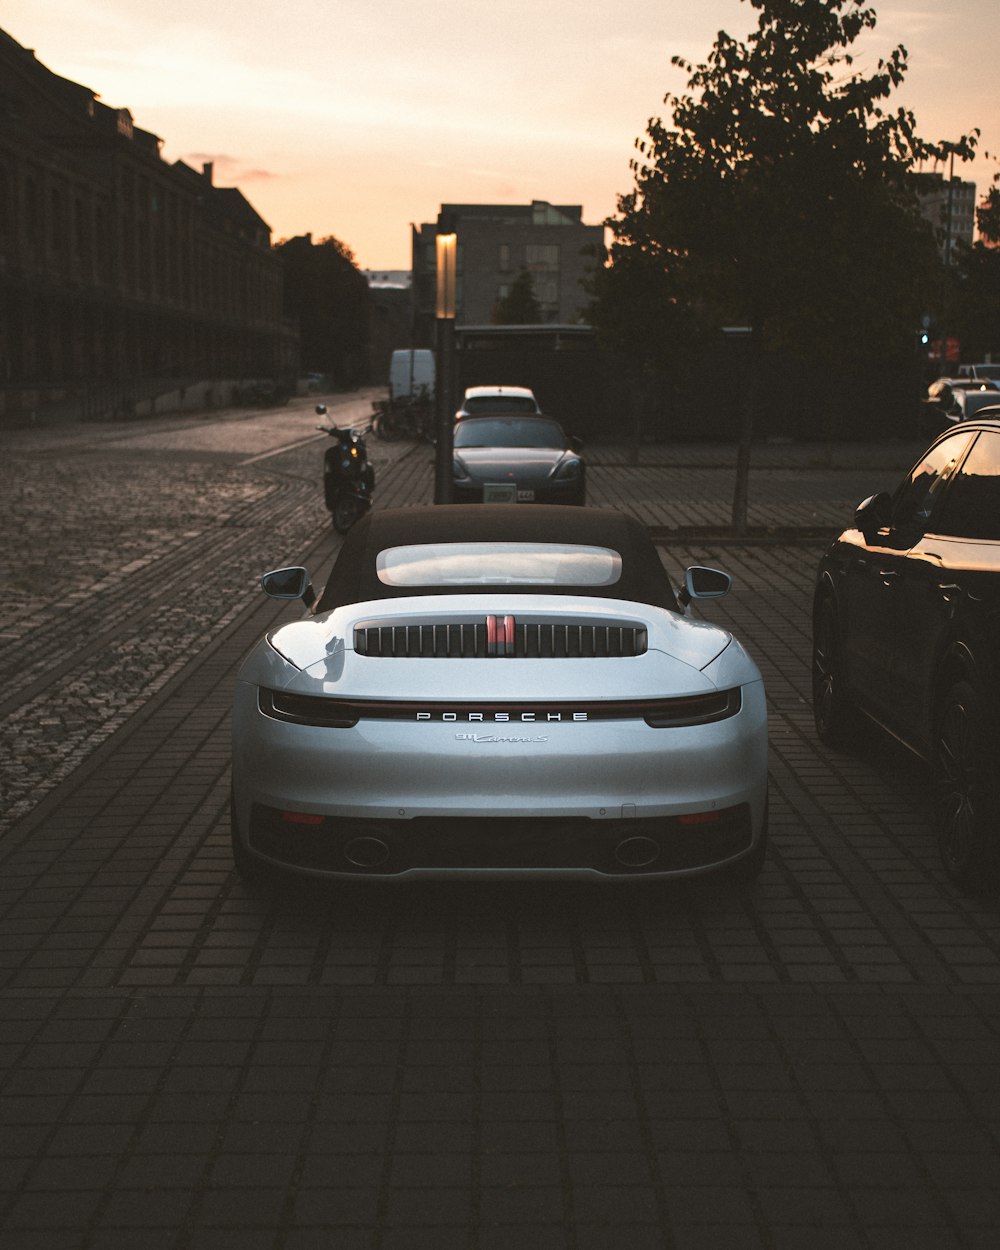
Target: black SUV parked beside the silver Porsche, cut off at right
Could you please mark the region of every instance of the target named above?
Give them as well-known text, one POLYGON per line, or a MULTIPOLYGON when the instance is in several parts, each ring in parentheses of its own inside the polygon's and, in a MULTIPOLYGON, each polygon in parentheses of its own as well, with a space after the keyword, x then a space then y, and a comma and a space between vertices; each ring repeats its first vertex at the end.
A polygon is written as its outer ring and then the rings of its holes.
POLYGON ((938 840, 959 885, 1000 865, 1000 410, 938 438, 820 561, 812 708, 829 746, 861 712, 931 765, 938 840))

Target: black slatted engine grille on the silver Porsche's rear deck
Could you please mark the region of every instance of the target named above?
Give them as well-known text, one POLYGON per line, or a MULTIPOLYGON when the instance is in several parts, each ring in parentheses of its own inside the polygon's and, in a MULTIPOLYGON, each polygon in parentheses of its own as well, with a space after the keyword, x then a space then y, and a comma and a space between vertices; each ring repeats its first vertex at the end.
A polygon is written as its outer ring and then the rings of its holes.
MULTIPOLYGON (((502 619, 502 618, 501 618, 502 619)), ((645 655, 646 629, 620 621, 526 621, 514 626, 512 645, 496 645, 486 621, 424 621, 395 625, 365 621, 355 628, 359 655, 398 659, 474 660, 502 655, 514 659, 576 660, 645 655)))

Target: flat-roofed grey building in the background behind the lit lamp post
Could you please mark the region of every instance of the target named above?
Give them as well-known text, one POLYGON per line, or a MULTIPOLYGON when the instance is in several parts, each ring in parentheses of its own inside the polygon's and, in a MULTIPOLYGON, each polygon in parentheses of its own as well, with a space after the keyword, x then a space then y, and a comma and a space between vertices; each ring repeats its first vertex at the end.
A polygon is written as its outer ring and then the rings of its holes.
POLYGON ((604 259, 604 226, 582 221, 579 204, 442 204, 438 220, 412 229, 412 290, 418 345, 434 339, 436 238, 458 236, 456 325, 489 325, 494 305, 522 271, 541 324, 582 321, 584 280, 604 259))

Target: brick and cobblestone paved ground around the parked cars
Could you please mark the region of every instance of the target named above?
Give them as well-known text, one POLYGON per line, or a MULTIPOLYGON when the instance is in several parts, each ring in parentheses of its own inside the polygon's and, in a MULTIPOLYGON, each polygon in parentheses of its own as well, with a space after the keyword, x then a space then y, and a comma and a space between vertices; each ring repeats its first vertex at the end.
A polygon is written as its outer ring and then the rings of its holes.
MULTIPOLYGON (((752 891, 254 892, 228 704, 294 609, 252 582, 336 546, 299 416, 0 449, 24 530, 0 552, 4 1250, 994 1246, 996 900, 944 881, 919 765, 815 740, 821 540, 774 541, 835 530, 915 449, 760 449, 774 532, 739 544, 731 449, 591 451, 592 501, 736 578, 711 616, 770 701, 752 891)), ((380 504, 428 498, 426 451, 374 451, 380 504)))

